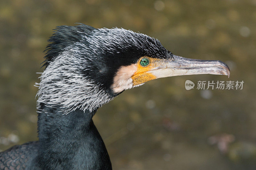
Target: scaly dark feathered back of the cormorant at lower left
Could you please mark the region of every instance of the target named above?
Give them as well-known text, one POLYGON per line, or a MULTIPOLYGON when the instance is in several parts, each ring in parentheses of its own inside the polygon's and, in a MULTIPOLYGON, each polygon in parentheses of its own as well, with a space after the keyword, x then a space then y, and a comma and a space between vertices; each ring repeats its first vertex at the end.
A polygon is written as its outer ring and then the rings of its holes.
POLYGON ((28 142, 22 145, 15 145, 4 152, 0 152, 0 169, 26 169, 29 162, 36 157, 38 147, 38 141, 28 142))

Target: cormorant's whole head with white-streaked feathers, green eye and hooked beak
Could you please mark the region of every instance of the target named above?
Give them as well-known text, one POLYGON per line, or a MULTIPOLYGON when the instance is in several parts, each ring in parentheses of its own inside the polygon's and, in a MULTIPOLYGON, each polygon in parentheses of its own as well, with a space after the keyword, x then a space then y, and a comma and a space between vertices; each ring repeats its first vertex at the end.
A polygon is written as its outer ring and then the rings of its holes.
POLYGON ((157 39, 119 28, 59 26, 48 40, 38 83, 40 104, 95 111, 124 90, 149 80, 192 74, 229 76, 228 65, 172 54, 157 39))

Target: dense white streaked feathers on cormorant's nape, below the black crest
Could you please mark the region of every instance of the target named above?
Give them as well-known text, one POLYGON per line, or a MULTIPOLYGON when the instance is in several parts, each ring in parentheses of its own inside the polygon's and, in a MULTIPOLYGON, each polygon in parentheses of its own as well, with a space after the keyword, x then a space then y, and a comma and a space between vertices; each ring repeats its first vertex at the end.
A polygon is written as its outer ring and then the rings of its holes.
POLYGON ((77 72, 87 62, 82 57, 75 56, 77 54, 74 52, 74 48, 65 50, 49 63, 39 77, 41 81, 36 84, 39 86, 38 109, 39 104, 44 103, 46 106, 60 105, 65 114, 76 109, 93 111, 112 100, 100 85, 88 81, 77 72))

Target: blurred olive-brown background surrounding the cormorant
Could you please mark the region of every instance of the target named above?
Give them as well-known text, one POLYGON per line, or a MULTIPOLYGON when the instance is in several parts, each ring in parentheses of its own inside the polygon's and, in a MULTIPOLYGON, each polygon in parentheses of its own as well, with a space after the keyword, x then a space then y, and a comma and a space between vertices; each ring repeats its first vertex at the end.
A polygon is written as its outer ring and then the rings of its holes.
POLYGON ((145 33, 231 70, 156 79, 100 108, 113 169, 256 169, 256 0, 1 0, 0 151, 37 140, 36 72, 52 29, 75 23, 145 33), (244 86, 188 91, 186 80, 244 86))

